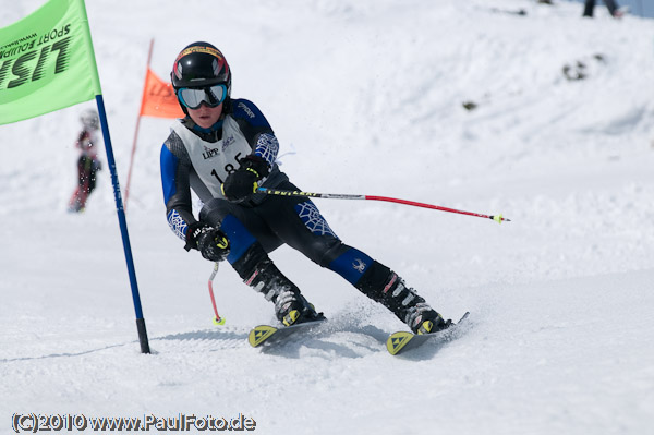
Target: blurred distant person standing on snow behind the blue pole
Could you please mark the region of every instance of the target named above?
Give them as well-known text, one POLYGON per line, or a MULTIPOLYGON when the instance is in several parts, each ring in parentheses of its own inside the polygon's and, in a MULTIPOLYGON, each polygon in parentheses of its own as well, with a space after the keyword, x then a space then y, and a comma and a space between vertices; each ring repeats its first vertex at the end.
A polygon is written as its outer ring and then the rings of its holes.
POLYGON ((86 207, 86 200, 96 186, 96 173, 101 169, 98 159, 98 129, 100 120, 94 109, 86 109, 80 117, 82 131, 75 146, 80 148, 77 159, 77 188, 69 202, 69 212, 81 213, 86 207))

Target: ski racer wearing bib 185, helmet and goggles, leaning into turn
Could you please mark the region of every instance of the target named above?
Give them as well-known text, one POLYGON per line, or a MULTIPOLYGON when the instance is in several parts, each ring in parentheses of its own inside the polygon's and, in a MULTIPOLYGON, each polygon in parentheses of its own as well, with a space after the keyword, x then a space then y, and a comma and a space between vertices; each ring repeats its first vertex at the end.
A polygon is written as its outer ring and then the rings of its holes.
POLYGON ((231 71, 216 47, 186 46, 174 60, 171 81, 186 117, 174 122, 161 148, 161 181, 168 223, 186 251, 227 259, 275 304, 287 326, 323 313, 268 256, 284 243, 384 304, 415 334, 451 324, 395 271, 341 242, 312 201, 255 193, 259 185, 299 189, 276 164, 279 143, 264 114, 253 102, 231 98, 231 71), (204 204, 198 219, 191 189, 204 204))

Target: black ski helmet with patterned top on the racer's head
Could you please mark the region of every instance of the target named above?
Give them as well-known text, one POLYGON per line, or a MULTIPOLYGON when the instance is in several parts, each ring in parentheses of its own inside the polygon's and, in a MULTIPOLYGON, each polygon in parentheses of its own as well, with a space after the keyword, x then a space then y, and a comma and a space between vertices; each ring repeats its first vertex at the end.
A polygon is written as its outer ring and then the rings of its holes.
MULTIPOLYGON (((181 87, 205 87, 217 83, 227 86, 227 98, 231 94, 231 71, 227 59, 219 49, 209 43, 197 41, 187 45, 178 55, 170 73, 174 94, 181 87)), ((184 113, 186 108, 180 102, 184 113)))

